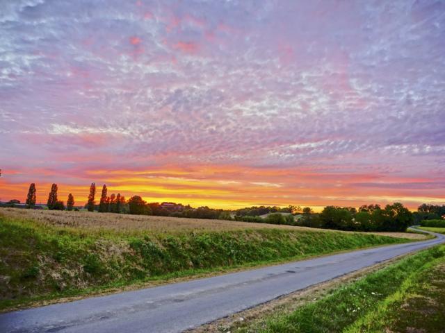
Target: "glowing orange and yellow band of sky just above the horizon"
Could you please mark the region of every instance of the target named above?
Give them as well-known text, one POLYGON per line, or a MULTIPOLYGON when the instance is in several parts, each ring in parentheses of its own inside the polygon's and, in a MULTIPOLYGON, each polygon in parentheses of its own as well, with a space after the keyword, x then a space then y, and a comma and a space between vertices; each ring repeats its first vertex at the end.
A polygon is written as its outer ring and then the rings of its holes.
MULTIPOLYGON (((24 201, 29 183, 23 182, 27 171, 4 172, 0 178, 0 200, 17 198, 24 201)), ((391 189, 382 185, 397 184, 399 178, 385 179, 368 184, 366 174, 348 175, 341 173, 307 172, 304 169, 248 168, 229 166, 194 166, 187 171, 172 167, 138 170, 86 170, 65 173, 55 178, 49 171, 40 171, 43 178, 33 181, 37 187, 38 203, 45 203, 51 183, 58 184, 59 199, 66 201, 72 193, 76 205, 84 205, 87 200, 90 182, 96 183, 96 199, 100 196, 103 184, 109 194, 118 194, 127 199, 133 195, 141 196, 149 203, 175 202, 192 207, 236 210, 241 207, 260 205, 300 205, 312 207, 319 212, 326 205, 359 207, 363 204, 402 202, 410 209, 421 203, 442 203, 443 197, 425 196, 423 191, 412 195, 412 189, 391 189), (264 179, 268 179, 265 182, 264 179), (383 180, 385 179, 385 180, 383 180), (70 182, 67 182, 70 180, 70 182), (314 186, 314 184, 316 186, 314 186), (307 184, 307 186, 302 186, 307 184), (341 186, 332 186, 332 185, 341 186), (362 188, 361 184, 366 185, 362 188), (339 194, 339 191, 341 194, 339 194)), ((375 179, 375 176, 372 177, 375 179)), ((423 183, 422 178, 404 180, 416 187, 423 183)))

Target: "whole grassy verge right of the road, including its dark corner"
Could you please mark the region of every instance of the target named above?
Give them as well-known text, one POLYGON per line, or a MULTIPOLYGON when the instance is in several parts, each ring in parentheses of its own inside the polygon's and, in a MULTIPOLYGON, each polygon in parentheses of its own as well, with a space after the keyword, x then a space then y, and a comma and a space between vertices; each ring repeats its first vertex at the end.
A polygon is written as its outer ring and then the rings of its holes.
POLYGON ((233 332, 444 332, 445 246, 405 257, 291 314, 275 312, 233 332))

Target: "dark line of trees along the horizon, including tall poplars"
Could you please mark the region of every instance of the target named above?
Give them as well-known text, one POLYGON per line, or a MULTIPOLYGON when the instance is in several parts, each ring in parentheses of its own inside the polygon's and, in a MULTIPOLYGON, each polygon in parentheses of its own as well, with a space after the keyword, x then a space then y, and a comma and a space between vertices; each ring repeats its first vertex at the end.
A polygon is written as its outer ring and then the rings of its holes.
MULTIPOLYGON (((72 194, 68 195, 65 206, 62 200, 58 200, 57 191, 58 186, 51 185, 47 200, 49 210, 78 210, 77 207, 74 207, 75 200, 72 194)), ((26 196, 26 207, 35 207, 35 200, 36 189, 35 184, 32 183, 26 196)), ((10 200, 10 204, 14 203, 19 203, 19 201, 10 200)), ((420 221, 444 219, 445 216, 445 205, 425 203, 420 205, 417 212, 414 213, 411 213, 401 203, 393 203, 385 207, 380 207, 377 204, 362 205, 358 210, 355 207, 327 206, 317 214, 310 207, 301 208, 295 205, 288 207, 252 206, 235 211, 218 210, 207 206, 193 208, 190 205, 183 206, 175 203, 147 203, 140 196, 132 196, 126 200, 120 193, 108 196, 108 188, 105 184, 102 186, 102 192, 97 202, 95 182, 90 185, 88 201, 84 207, 90 212, 225 219, 357 231, 405 231, 408 226, 418 224, 420 221), (265 218, 260 217, 266 214, 268 215, 265 218)))

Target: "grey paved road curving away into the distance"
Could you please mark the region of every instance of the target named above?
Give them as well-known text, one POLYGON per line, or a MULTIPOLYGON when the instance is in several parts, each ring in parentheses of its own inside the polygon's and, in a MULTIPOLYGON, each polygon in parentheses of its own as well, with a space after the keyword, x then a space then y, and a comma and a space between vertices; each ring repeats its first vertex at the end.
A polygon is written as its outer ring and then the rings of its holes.
POLYGON ((357 250, 213 278, 86 298, 0 315, 0 332, 182 332, 278 296, 337 278, 436 239, 357 250))

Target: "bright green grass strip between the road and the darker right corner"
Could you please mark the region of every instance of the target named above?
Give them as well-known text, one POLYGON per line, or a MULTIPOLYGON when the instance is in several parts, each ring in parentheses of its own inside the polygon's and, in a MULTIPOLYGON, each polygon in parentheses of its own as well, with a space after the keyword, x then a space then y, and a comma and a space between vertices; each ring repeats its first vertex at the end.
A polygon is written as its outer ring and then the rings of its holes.
POLYGON ((423 250, 357 282, 334 289, 325 298, 309 302, 291 314, 275 313, 234 332, 385 332, 385 323, 388 323, 385 315, 397 308, 394 300, 401 300, 405 290, 413 286, 412 281, 444 262, 445 246, 423 250))

